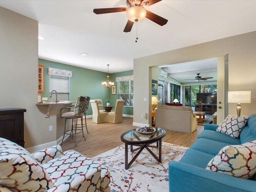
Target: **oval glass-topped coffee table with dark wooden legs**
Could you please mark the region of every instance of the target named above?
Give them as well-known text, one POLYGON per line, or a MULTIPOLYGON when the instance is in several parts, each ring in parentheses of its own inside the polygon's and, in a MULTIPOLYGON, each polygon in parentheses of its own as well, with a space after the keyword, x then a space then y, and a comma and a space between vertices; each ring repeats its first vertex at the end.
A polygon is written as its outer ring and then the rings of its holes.
POLYGON ((143 149, 148 150, 150 154, 158 161, 162 162, 162 138, 165 136, 166 132, 162 128, 153 128, 154 132, 151 133, 142 133, 137 131, 136 129, 125 132, 121 135, 121 141, 125 143, 125 169, 128 169, 131 164, 136 160, 139 154, 143 149), (152 146, 151 144, 156 142, 156 146, 152 146), (128 162, 128 145, 131 146, 131 152, 139 150, 136 155, 132 158, 130 162, 128 162), (138 146, 133 149, 133 146, 138 146), (150 150, 149 147, 159 148, 158 157, 156 154, 150 150))

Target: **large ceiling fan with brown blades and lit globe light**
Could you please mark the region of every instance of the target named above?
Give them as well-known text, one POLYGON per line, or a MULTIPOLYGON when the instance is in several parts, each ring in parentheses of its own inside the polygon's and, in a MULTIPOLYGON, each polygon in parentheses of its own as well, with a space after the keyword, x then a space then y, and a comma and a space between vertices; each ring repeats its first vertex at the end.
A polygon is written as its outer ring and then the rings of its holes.
POLYGON ((151 6, 159 1, 161 0, 126 0, 127 7, 100 8, 94 9, 93 12, 95 14, 105 14, 126 11, 128 22, 126 23, 124 32, 130 32, 132 30, 133 23, 138 22, 145 17, 160 26, 163 26, 168 22, 167 19, 145 9, 145 7, 151 6))

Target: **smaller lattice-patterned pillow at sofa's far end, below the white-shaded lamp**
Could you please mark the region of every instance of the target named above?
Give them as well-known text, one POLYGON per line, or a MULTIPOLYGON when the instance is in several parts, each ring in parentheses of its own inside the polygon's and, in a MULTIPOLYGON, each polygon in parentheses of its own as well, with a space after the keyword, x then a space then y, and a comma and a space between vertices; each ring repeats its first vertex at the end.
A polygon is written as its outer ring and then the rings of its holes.
POLYGON ((239 138, 242 128, 245 126, 249 116, 236 117, 228 115, 216 131, 227 134, 233 138, 239 138))

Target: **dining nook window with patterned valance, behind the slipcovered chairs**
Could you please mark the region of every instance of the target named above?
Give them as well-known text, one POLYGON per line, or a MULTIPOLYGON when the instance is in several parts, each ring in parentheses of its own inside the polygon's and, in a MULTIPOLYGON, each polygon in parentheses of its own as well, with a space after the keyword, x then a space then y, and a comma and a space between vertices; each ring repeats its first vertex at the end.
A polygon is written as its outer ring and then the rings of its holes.
POLYGON ((124 106, 133 106, 133 75, 116 78, 118 99, 124 100, 124 106))

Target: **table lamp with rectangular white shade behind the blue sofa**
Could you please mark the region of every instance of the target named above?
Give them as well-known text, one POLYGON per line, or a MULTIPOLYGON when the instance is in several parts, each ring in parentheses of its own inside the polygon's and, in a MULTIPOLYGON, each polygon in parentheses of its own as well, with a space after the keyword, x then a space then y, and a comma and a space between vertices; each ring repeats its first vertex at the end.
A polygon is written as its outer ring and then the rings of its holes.
POLYGON ((228 92, 228 103, 237 103, 237 116, 241 114, 241 103, 251 103, 251 92, 250 91, 229 91, 228 92))

